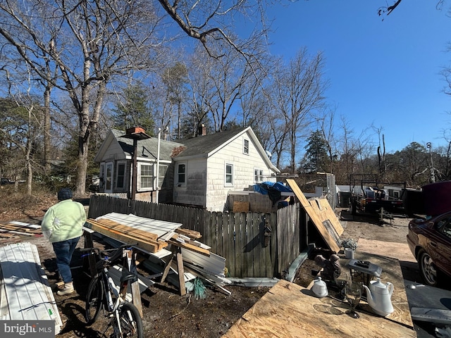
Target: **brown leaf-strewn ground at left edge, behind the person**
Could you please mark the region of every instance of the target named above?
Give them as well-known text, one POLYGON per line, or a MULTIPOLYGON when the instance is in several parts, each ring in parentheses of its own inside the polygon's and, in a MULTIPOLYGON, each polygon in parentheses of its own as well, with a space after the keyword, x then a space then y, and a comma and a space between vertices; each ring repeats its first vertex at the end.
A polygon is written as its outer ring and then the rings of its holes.
POLYGON ((27 195, 20 186, 18 192, 13 185, 0 186, 0 221, 1 220, 40 220, 47 208, 58 200, 56 194, 35 191, 27 195))

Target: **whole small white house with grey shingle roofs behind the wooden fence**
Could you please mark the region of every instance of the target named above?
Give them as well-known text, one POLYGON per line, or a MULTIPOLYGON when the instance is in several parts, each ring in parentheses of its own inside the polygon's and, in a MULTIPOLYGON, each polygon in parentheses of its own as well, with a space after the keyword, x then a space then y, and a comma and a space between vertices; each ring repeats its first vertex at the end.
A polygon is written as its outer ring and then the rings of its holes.
MULTIPOLYGON (((111 130, 95 161, 100 163, 99 192, 130 196, 133 141, 111 130)), ((177 142, 137 141, 136 199, 223 211, 230 190, 276 182, 280 173, 251 127, 206 134, 177 142), (158 144, 160 151, 158 156, 158 144), (156 163, 159 162, 159 184, 156 163)))

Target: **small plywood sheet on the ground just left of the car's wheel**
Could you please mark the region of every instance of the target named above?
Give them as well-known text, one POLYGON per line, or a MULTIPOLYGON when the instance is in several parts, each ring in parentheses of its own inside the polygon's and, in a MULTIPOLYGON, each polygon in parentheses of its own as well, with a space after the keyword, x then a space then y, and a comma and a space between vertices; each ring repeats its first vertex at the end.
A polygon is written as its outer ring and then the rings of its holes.
POLYGON ((406 243, 376 241, 375 239, 359 238, 357 252, 364 251, 375 255, 397 258, 404 262, 416 263, 416 259, 406 243))

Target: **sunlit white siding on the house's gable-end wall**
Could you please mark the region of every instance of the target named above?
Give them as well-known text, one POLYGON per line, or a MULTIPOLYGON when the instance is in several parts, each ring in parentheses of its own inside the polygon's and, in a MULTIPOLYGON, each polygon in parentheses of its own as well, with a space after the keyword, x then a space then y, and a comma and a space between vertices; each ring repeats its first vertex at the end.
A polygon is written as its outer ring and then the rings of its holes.
POLYGON ((276 182, 257 147, 247 134, 230 142, 208 159, 206 205, 210 211, 223 211, 230 190, 242 191, 254 184, 254 169, 263 170, 264 181, 276 182), (243 154, 243 140, 249 140, 249 154, 243 154), (226 163, 233 165, 233 187, 225 184, 226 163))

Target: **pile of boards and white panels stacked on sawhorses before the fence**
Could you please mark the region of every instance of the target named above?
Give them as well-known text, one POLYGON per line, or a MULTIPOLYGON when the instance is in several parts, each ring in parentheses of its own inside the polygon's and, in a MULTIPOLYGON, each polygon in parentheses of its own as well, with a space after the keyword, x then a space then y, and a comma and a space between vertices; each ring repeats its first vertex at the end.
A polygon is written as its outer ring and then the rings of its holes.
POLYGON ((140 265, 180 288, 182 294, 194 289, 200 278, 226 294, 226 259, 211 252, 211 247, 199 242, 202 234, 184 229, 182 224, 142 218, 136 215, 108 213, 96 219, 89 218, 87 227, 101 234, 112 246, 130 244, 142 254, 140 265), (173 259, 176 258, 176 259, 173 259), (183 261, 182 264, 178 263, 183 261), (183 275, 183 278, 180 276, 183 275))

